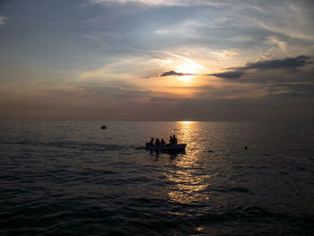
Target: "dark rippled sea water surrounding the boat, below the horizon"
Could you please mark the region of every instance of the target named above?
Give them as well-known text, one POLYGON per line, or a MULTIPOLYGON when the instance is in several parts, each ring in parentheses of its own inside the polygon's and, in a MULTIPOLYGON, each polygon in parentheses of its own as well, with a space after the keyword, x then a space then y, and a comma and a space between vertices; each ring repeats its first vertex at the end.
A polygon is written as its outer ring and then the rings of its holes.
POLYGON ((313 123, 0 125, 0 235, 313 235, 313 123))

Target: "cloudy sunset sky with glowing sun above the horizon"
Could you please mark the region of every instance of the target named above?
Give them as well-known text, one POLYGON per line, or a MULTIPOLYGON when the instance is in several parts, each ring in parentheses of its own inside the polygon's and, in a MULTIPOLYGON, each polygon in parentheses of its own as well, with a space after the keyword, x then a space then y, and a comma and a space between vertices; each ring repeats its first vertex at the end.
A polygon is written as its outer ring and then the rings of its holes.
POLYGON ((314 120, 312 0, 1 0, 0 119, 314 120))

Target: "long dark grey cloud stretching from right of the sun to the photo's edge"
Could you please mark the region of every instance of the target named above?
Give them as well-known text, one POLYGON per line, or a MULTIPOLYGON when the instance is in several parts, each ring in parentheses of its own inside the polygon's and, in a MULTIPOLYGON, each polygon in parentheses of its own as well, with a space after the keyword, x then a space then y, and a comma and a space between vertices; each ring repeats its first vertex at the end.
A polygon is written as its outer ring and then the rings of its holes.
POLYGON ((299 57, 287 57, 282 60, 266 60, 259 61, 256 63, 248 63, 246 66, 240 67, 230 67, 227 68, 228 72, 216 73, 216 74, 207 74, 214 75, 216 77, 225 78, 225 79, 239 79, 246 71, 255 69, 257 71, 266 71, 266 70, 286 70, 288 72, 298 72, 299 67, 307 66, 311 64, 311 57, 309 56, 299 56, 299 57))

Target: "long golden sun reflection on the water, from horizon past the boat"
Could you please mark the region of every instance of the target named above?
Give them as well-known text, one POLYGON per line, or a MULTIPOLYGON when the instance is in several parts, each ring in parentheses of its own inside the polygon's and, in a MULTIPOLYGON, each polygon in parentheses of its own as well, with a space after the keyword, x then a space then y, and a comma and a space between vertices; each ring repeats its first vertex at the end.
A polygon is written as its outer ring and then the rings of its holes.
POLYGON ((180 156, 174 162, 175 166, 166 173, 166 178, 172 182, 168 192, 171 201, 181 204, 202 202, 209 199, 206 189, 211 185, 213 176, 205 171, 202 165, 200 148, 197 142, 201 130, 199 122, 179 121, 177 122, 179 143, 188 144, 187 153, 180 156))

